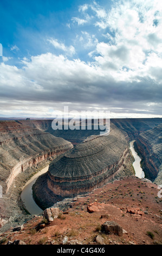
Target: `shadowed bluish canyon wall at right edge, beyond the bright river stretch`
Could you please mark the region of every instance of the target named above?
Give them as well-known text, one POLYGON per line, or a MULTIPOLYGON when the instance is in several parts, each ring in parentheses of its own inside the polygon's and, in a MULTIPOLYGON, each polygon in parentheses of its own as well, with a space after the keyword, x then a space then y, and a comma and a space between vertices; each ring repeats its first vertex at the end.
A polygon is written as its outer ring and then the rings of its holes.
POLYGON ((141 132, 136 138, 135 149, 142 161, 145 177, 161 185, 162 182, 162 124, 141 132))

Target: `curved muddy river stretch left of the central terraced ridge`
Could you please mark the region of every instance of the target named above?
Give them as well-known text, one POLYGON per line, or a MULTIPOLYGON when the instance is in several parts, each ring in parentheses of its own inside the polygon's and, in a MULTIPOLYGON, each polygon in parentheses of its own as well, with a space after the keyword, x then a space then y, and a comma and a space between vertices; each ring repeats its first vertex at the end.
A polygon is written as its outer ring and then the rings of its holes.
POLYGON ((32 186, 35 184, 38 176, 48 171, 48 167, 49 166, 43 168, 42 170, 40 170, 40 172, 36 173, 30 180, 28 180, 28 182, 22 188, 21 199, 24 203, 25 209, 27 209, 30 214, 41 214, 43 212, 43 210, 38 207, 33 199, 32 186))

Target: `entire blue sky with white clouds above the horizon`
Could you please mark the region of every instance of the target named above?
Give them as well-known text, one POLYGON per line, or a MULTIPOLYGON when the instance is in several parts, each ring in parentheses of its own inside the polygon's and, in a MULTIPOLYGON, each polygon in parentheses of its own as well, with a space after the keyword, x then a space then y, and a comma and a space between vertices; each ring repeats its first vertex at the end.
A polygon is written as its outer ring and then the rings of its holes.
POLYGON ((1 0, 0 43, 0 117, 162 117, 161 0, 1 0))

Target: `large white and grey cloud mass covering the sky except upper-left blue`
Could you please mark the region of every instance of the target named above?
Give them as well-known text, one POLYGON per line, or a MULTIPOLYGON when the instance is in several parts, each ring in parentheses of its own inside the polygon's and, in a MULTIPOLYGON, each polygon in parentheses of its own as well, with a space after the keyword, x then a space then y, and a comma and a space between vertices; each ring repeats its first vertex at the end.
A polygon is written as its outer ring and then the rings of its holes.
POLYGON ((157 0, 118 1, 111 10, 95 2, 81 5, 81 17, 72 18, 82 25, 82 31, 74 35, 75 44, 82 44, 84 51, 87 47, 93 62, 68 59, 75 53, 74 46, 50 38, 48 42, 62 51, 61 55, 23 58, 20 69, 1 63, 1 99, 14 101, 13 106, 20 109, 25 102, 23 111, 26 108, 29 113, 31 102, 32 106, 42 102, 43 113, 51 104, 56 107, 68 102, 81 108, 102 105, 118 111, 119 117, 121 112, 128 112, 127 117, 139 117, 138 112, 142 117, 162 114, 161 5, 157 0), (92 30, 83 29, 87 23, 92 30))

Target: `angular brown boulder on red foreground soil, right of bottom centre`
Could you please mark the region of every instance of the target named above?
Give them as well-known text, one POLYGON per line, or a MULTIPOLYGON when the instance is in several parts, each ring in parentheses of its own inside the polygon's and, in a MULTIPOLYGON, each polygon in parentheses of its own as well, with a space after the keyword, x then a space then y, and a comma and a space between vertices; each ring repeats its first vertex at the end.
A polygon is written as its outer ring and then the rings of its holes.
POLYGON ((101 228, 105 233, 113 233, 122 236, 122 227, 114 221, 106 221, 101 225, 101 228))

